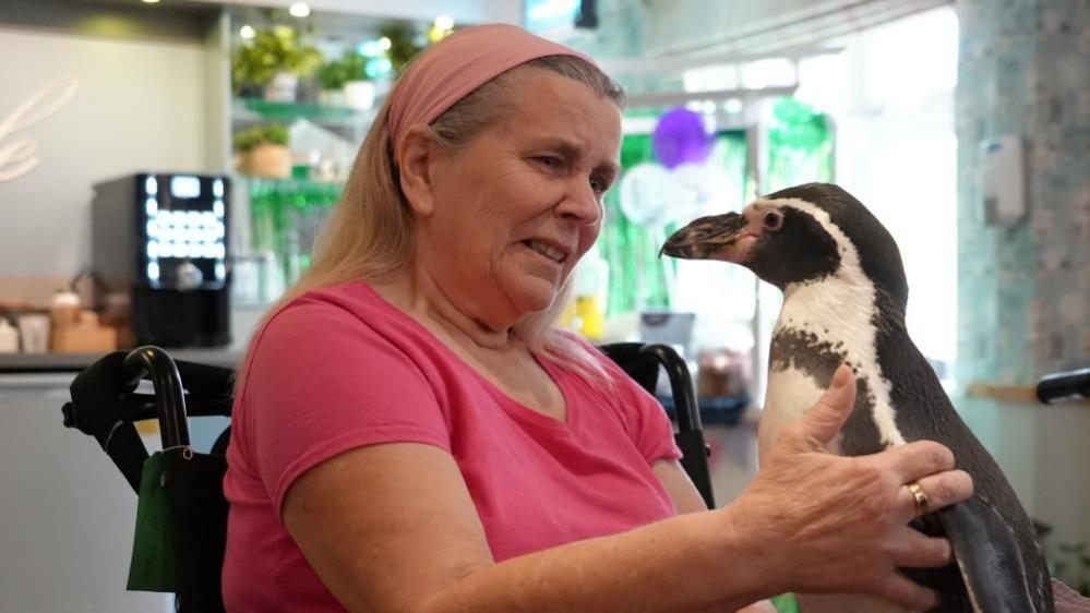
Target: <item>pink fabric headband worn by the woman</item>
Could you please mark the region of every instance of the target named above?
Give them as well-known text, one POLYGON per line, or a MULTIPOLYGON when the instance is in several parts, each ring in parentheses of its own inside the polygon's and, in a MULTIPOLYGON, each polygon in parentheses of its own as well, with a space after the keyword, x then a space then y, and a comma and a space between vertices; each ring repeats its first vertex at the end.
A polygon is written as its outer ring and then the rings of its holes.
POLYGON ((474 89, 546 56, 575 56, 595 63, 514 25, 479 25, 452 34, 414 60, 402 75, 390 106, 390 142, 396 146, 410 125, 431 123, 474 89))

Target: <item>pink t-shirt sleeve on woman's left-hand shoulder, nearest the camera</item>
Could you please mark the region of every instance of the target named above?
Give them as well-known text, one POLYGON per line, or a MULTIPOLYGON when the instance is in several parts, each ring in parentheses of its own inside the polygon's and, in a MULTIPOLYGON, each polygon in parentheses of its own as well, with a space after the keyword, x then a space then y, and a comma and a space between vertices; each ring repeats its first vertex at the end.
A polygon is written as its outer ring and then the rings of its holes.
POLYGON ((300 474, 349 449, 417 442, 450 450, 423 371, 356 314, 301 301, 260 334, 242 383, 247 444, 277 512, 300 474))

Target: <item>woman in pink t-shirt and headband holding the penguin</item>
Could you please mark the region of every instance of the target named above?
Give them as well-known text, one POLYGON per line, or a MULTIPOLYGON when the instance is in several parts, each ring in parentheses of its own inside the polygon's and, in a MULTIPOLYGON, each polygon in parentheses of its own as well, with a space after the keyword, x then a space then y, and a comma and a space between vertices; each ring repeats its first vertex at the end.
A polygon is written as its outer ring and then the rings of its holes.
POLYGON ((423 53, 379 113, 314 264, 252 340, 225 490, 230 611, 735 611, 789 590, 934 594, 906 483, 944 447, 824 452, 841 368, 753 484, 707 510, 654 398, 555 329, 619 173, 622 93, 504 25, 423 53))

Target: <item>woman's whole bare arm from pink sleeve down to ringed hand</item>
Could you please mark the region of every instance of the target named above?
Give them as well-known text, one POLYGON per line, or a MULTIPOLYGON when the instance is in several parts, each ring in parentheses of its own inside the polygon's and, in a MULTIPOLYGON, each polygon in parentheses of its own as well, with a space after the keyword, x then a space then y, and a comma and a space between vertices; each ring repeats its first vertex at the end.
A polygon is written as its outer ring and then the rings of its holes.
POLYGON ((927 609, 931 593, 897 567, 948 563, 949 545, 907 527, 913 502, 903 484, 932 476, 938 508, 968 497, 971 482, 937 444, 866 458, 824 452, 854 397, 842 372, 723 509, 494 563, 454 459, 393 443, 303 473, 288 490, 284 522, 333 594, 358 612, 678 613, 791 590, 927 609))

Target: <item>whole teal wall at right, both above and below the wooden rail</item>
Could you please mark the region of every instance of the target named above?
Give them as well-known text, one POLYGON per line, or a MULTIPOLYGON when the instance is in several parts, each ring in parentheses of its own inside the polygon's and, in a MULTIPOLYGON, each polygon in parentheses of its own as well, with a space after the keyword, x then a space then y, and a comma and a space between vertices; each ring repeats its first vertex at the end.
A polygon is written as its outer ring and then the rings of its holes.
MULTIPOLYGON (((1090 11, 1086 0, 960 0, 958 360, 970 383, 1030 386, 1090 365, 1090 11), (983 221, 982 140, 1025 145, 1027 215, 983 221)), ((1090 542, 1087 405, 957 398, 1045 542, 1090 542)), ((1064 577, 1068 581, 1075 577, 1064 577)))

